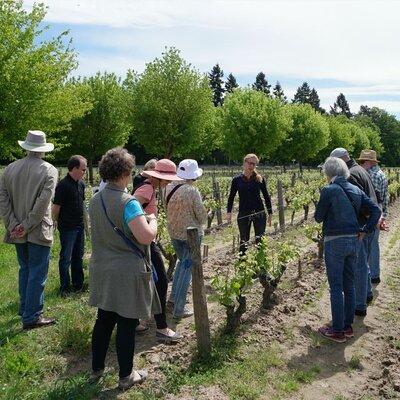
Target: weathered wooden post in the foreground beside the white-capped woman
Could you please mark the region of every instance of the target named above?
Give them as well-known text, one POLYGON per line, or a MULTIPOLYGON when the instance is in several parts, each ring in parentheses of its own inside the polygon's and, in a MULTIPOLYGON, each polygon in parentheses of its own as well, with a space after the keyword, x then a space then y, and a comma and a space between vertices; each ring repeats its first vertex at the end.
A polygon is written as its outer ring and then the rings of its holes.
POLYGON ((207 299, 204 288, 203 265, 201 262, 201 248, 198 229, 195 227, 187 228, 187 237, 193 266, 192 292, 197 349, 200 354, 208 355, 211 352, 210 322, 208 320, 207 299))

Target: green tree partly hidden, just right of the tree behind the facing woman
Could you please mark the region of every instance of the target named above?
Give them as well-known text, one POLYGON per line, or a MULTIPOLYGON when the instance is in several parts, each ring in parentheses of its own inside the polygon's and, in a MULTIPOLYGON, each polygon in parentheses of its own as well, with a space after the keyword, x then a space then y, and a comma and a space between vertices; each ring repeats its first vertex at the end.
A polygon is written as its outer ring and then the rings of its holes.
POLYGON ((296 160, 301 167, 326 147, 329 125, 309 104, 291 104, 286 107, 293 124, 286 140, 275 152, 276 159, 281 162, 296 160))

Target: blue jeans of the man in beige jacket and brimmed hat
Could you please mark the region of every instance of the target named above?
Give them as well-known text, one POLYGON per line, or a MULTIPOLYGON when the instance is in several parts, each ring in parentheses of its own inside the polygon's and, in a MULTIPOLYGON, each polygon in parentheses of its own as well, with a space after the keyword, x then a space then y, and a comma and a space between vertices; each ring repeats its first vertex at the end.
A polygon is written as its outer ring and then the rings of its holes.
POLYGON ((26 242, 16 244, 15 248, 19 263, 19 314, 24 324, 31 324, 43 312, 50 247, 26 242))

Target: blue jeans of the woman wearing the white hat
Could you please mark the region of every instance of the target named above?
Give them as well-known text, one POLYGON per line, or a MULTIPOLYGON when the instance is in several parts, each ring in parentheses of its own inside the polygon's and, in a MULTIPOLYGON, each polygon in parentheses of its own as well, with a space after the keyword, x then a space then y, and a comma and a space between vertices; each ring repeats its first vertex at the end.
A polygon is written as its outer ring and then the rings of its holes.
MULTIPOLYGON (((199 238, 201 241, 201 237, 199 238)), ((185 309, 186 296, 192 280, 192 257, 186 240, 172 239, 178 261, 172 281, 172 298, 174 300, 174 316, 182 315, 185 309)))

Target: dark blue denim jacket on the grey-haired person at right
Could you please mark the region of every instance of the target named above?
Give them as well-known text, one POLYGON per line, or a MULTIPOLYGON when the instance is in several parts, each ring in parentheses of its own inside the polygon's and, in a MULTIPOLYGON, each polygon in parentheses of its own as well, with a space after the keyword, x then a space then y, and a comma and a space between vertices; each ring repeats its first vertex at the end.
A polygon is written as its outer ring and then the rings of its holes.
POLYGON ((337 236, 373 232, 380 216, 379 207, 361 189, 338 176, 321 190, 314 218, 323 223, 322 232, 325 236, 337 236), (357 214, 342 188, 351 196, 357 214), (370 214, 362 227, 357 220, 361 207, 366 207, 370 214))

